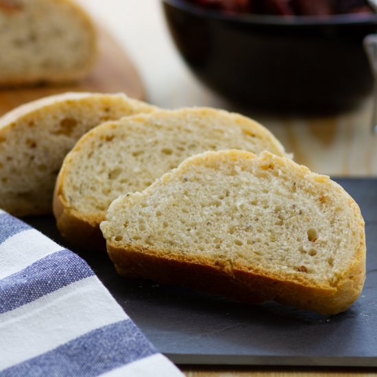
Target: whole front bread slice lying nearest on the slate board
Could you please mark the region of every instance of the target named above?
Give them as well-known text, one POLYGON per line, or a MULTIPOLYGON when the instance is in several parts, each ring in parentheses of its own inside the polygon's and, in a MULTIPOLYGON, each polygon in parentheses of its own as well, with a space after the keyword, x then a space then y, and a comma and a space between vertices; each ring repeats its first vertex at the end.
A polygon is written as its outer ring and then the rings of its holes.
POLYGON ((101 230, 123 276, 237 300, 345 311, 365 279, 364 221, 339 184, 265 151, 188 158, 112 202, 101 230))

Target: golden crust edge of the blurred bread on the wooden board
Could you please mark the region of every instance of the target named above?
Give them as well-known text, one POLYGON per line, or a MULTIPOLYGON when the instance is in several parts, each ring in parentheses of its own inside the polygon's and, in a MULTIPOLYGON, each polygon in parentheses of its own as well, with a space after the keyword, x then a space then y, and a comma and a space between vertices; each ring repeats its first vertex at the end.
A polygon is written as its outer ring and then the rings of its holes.
POLYGON ((1 77, 0 76, 0 86, 7 87, 7 86, 23 86, 23 85, 35 85, 40 84, 42 82, 51 82, 51 83, 62 83, 62 82, 71 82, 78 80, 84 76, 86 76, 93 66, 97 62, 99 57, 99 50, 98 50, 98 32, 95 24, 93 23, 92 19, 88 15, 88 13, 80 6, 77 2, 73 0, 50 0, 56 1, 56 3, 66 3, 69 5, 72 10, 80 17, 80 20, 84 24, 84 29, 90 35, 90 51, 91 54, 86 60, 86 63, 77 69, 71 71, 42 71, 40 75, 18 75, 13 77, 1 77))

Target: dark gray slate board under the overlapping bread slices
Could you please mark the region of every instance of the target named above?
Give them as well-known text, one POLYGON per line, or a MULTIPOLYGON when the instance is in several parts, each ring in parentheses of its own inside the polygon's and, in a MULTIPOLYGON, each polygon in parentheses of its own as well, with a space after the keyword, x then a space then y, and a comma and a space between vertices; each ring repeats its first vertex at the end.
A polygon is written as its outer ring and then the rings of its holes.
MULTIPOLYGON (((365 219, 367 280, 352 308, 332 317, 275 302, 247 305, 184 287, 125 280, 106 254, 73 251, 175 363, 377 367, 377 179, 337 181, 365 219)), ((27 222, 64 244, 51 217, 27 222)))

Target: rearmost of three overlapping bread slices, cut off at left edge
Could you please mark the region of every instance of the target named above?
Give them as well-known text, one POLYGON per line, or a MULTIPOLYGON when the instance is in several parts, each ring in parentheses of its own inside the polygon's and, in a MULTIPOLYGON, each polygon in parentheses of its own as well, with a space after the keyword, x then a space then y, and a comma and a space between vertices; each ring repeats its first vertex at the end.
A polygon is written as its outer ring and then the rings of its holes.
POLYGON ((51 213, 56 176, 77 139, 108 119, 153 109, 123 94, 65 93, 8 112, 0 118, 0 208, 51 213))

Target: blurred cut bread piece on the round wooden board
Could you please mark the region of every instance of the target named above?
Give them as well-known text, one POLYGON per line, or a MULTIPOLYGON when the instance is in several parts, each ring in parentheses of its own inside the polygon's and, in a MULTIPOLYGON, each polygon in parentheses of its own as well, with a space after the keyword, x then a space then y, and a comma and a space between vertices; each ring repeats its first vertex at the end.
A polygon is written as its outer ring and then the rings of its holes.
POLYGON ((0 0, 0 85, 64 82, 97 58, 90 17, 71 0, 0 0))

